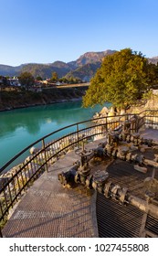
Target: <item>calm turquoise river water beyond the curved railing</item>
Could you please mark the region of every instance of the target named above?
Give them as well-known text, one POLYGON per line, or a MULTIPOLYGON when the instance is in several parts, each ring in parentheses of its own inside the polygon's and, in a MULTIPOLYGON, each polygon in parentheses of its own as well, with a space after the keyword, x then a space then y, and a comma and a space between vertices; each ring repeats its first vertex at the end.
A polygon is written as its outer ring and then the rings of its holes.
POLYGON ((47 133, 89 120, 101 108, 97 105, 93 109, 84 109, 81 101, 68 101, 0 112, 0 167, 47 133))

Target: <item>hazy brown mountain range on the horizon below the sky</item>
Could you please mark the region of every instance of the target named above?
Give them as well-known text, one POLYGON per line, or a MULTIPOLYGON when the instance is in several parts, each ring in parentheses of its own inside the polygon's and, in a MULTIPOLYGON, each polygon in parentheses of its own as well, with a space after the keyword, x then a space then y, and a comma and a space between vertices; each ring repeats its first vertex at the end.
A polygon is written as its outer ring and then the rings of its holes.
MULTIPOLYGON (((28 63, 17 67, 0 64, 0 75, 18 76, 21 72, 30 72, 35 78, 37 76, 43 79, 51 78, 52 72, 58 73, 58 78, 74 77, 80 80, 90 81, 97 69, 100 68, 101 61, 104 57, 113 54, 116 50, 105 50, 100 52, 87 52, 74 61, 65 63, 55 61, 50 64, 28 63)), ((149 59, 150 62, 157 64, 158 57, 149 59)))

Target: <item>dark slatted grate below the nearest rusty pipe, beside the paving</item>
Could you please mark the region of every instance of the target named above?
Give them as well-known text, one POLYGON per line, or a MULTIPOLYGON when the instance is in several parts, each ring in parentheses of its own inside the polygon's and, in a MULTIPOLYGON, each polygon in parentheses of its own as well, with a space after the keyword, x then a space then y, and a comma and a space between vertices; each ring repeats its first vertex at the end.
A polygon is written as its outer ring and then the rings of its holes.
POLYGON ((141 210, 131 205, 121 206, 98 193, 96 211, 100 238, 139 237, 143 216, 141 210))

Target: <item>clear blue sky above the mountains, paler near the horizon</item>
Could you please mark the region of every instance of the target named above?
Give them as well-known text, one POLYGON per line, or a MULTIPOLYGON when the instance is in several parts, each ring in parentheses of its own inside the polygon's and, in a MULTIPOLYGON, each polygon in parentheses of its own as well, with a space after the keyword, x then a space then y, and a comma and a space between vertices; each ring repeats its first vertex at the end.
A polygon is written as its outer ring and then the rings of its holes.
POLYGON ((158 56, 157 0, 0 0, 0 64, 132 48, 158 56))

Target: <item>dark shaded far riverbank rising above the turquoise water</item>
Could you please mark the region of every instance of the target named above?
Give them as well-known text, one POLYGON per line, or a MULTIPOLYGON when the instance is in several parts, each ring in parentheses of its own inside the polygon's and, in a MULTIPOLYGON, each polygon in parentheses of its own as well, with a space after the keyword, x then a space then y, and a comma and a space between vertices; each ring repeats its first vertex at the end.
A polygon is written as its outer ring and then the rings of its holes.
POLYGON ((70 88, 51 88, 40 92, 35 91, 1 91, 0 111, 47 105, 58 102, 81 100, 86 86, 70 88))

